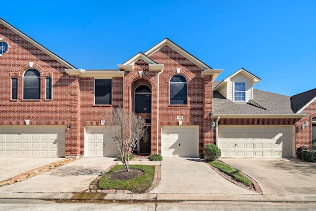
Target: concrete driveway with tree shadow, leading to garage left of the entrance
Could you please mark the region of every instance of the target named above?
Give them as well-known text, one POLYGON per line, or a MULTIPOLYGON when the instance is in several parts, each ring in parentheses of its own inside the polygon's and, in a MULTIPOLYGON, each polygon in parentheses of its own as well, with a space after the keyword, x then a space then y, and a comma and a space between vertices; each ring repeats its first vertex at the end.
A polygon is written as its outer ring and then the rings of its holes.
POLYGON ((115 158, 82 158, 58 169, 47 171, 12 185, 0 187, 0 193, 62 193, 88 189, 90 182, 115 163, 115 158))

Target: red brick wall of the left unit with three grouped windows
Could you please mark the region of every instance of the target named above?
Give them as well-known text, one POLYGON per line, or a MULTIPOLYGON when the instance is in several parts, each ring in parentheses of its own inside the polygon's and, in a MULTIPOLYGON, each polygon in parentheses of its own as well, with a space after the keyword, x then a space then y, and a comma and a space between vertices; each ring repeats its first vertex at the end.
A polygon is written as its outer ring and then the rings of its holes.
POLYGON ((66 155, 78 155, 82 146, 75 113, 79 107, 71 103, 77 78, 69 77, 67 67, 2 24, 0 37, 11 46, 0 57, 0 125, 25 125, 24 120, 30 120, 30 125, 64 125, 66 129, 71 124, 71 130, 66 131, 66 155), (40 100, 23 99, 23 74, 31 68, 29 62, 40 72, 40 100), (51 100, 45 99, 45 76, 52 77, 51 100), (17 100, 11 100, 11 77, 18 78, 17 100))

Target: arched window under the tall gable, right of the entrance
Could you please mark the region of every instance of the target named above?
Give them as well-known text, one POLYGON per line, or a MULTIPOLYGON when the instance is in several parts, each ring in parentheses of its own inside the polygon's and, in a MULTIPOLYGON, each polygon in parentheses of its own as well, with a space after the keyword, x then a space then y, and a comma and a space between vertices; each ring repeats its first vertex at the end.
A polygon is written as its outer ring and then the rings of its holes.
POLYGON ((170 79, 170 105, 186 105, 188 83, 183 75, 174 75, 170 79))

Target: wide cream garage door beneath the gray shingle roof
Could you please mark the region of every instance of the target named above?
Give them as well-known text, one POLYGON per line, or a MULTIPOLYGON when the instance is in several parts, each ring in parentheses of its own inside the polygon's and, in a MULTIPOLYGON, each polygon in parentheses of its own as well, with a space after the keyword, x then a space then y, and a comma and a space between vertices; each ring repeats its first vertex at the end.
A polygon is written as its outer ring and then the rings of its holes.
POLYGON ((218 127, 222 157, 291 158, 291 126, 218 127))

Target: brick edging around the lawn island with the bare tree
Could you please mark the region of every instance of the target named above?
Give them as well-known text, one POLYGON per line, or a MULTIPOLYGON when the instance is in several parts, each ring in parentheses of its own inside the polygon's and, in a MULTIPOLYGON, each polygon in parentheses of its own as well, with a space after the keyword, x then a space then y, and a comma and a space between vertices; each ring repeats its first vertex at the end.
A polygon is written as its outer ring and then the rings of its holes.
MULTIPOLYGON (((108 169, 106 169, 103 173, 101 173, 93 182, 91 182, 89 190, 82 192, 91 192, 91 193, 132 193, 130 190, 117 190, 117 189, 109 189, 109 190, 98 190, 97 189, 97 181, 107 172, 109 172, 116 165, 111 165, 108 169), (95 189, 96 188, 96 189, 95 189)), ((153 165, 150 165, 153 166, 153 165)), ((155 165, 155 174, 152 182, 152 186, 147 190, 147 193, 155 189, 161 180, 161 166, 155 165)))

